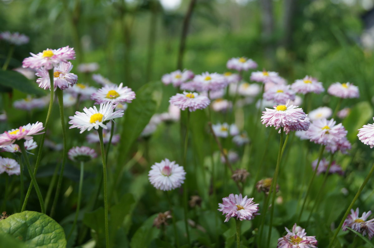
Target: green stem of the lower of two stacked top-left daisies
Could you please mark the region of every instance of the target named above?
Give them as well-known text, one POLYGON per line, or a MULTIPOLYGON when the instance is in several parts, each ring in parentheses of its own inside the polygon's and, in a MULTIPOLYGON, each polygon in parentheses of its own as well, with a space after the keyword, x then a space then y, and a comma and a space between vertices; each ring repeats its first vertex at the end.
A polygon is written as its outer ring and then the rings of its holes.
POLYGON ((67 142, 66 142, 67 136, 66 136, 66 125, 65 125, 65 116, 64 116, 64 100, 63 100, 62 90, 60 88, 57 88, 56 95, 58 98, 58 108, 60 110, 62 139, 63 139, 64 148, 62 150, 61 170, 60 170, 60 175, 58 176, 55 198, 53 200, 52 208, 50 210, 50 215, 49 215, 50 217, 53 217, 53 214, 55 213, 58 196, 61 191, 62 178, 64 177, 64 169, 65 169, 65 163, 66 163, 66 157, 67 157, 67 142))

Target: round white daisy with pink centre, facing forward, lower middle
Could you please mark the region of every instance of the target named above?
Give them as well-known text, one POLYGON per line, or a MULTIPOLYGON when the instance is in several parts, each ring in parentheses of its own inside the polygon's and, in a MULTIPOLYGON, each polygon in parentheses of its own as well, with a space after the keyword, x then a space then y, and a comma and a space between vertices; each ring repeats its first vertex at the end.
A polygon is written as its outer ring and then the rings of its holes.
POLYGON ((184 179, 186 179, 186 172, 183 166, 179 166, 175 161, 171 162, 165 158, 160 163, 155 163, 151 166, 148 179, 156 189, 169 191, 182 185, 184 179))

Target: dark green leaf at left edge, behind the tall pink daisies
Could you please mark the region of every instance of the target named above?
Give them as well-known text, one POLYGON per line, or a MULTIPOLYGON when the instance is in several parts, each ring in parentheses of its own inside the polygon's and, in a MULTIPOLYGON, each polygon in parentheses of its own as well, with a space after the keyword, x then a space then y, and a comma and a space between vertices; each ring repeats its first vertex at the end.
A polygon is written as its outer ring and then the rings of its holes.
POLYGON ((46 91, 37 86, 35 82, 13 70, 0 70, 0 85, 10 87, 27 94, 45 95, 46 91))

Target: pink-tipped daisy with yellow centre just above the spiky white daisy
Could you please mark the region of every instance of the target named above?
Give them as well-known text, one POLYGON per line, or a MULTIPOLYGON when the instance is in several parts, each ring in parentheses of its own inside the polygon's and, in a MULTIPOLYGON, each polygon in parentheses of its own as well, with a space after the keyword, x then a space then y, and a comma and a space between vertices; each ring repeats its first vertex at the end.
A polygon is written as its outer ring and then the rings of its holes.
POLYGON ((105 85, 97 92, 91 95, 91 99, 96 101, 95 104, 99 103, 131 103, 135 99, 135 92, 128 88, 123 87, 123 83, 120 85, 105 85))

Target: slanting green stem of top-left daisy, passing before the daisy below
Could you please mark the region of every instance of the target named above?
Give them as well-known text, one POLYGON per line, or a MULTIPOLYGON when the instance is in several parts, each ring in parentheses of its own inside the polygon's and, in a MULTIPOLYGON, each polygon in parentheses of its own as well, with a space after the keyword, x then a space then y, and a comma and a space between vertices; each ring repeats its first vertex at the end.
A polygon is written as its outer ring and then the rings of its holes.
MULTIPOLYGON (((54 76, 53 76, 53 69, 48 70, 49 73, 49 81, 50 81, 50 98, 49 98, 49 107, 48 107, 48 112, 47 112, 47 117, 46 117, 46 122, 44 123, 44 128, 45 131, 47 131, 48 126, 49 126, 49 119, 52 113, 52 107, 53 107, 53 96, 55 94, 55 91, 53 91, 54 88, 54 76)), ((44 145, 44 140, 46 137, 46 133, 44 132, 42 134, 42 139, 40 140, 40 145, 39 145, 39 150, 38 150, 38 156, 36 157, 36 163, 35 163, 35 168, 34 168, 34 176, 36 176, 36 173, 39 169, 39 164, 40 160, 42 159, 42 152, 43 152, 43 145, 44 145)), ((28 198, 30 197, 31 194, 31 189, 33 189, 33 181, 31 181, 30 185, 28 186, 27 192, 26 192, 26 197, 24 200, 24 206, 26 208, 28 198)), ((23 210, 25 210, 24 206, 22 206, 23 210)), ((22 211, 22 210, 21 210, 22 211)))

